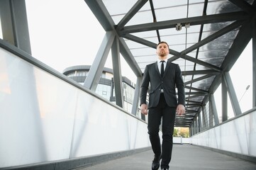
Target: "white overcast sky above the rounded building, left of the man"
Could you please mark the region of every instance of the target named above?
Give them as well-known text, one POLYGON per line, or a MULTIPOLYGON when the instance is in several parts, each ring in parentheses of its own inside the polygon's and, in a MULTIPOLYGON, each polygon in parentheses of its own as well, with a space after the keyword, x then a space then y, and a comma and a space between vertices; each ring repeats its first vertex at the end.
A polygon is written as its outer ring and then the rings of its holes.
MULTIPOLYGON (((58 72, 74 65, 91 65, 105 35, 83 0, 26 0, 33 57, 58 72)), ((121 57, 123 76, 136 81, 121 57)), ((112 68, 111 57, 105 67, 112 68)))

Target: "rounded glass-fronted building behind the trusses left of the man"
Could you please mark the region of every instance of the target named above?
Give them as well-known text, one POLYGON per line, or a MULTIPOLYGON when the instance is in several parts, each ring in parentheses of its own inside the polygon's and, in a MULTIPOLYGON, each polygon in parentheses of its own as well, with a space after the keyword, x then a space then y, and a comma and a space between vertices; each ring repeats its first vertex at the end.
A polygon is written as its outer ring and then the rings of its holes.
MULTIPOLYGON (((89 65, 77 65, 77 66, 67 67, 63 71, 63 74, 73 79, 74 81, 77 81, 79 84, 83 85, 84 80, 86 79, 90 68, 91 66, 89 65)), ((128 113, 131 113, 131 110, 133 108, 135 84, 126 77, 122 77, 122 84, 123 84, 123 101, 124 101, 123 109, 128 111, 128 113)), ((112 103, 116 103, 115 87, 113 84, 113 69, 104 67, 103 72, 101 74, 101 79, 99 80, 99 84, 95 92, 96 94, 99 94, 100 96, 106 98, 108 101, 111 101, 112 103)), ((138 113, 139 113, 139 109, 136 115, 140 117, 141 115, 138 113)), ((144 117, 143 117, 143 120, 145 120, 144 117)))

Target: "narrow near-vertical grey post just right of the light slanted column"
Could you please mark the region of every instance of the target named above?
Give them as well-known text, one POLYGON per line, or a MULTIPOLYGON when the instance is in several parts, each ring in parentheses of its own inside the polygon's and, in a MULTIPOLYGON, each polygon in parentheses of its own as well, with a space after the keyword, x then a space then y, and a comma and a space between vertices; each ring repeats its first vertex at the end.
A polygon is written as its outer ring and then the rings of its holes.
POLYGON ((123 108, 123 81, 121 74, 121 60, 119 50, 119 40, 115 38, 111 48, 113 64, 113 83, 115 87, 116 105, 123 108))

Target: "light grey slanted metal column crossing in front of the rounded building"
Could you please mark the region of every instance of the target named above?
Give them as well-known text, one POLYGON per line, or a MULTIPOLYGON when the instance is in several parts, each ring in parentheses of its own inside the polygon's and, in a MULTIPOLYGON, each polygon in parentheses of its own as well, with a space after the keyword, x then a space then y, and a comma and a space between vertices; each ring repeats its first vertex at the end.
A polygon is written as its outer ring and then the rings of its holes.
POLYGON ((101 46, 99 47, 99 51, 97 52, 94 62, 91 65, 87 79, 84 81, 84 86, 88 89, 91 89, 92 91, 96 91, 114 38, 115 33, 113 31, 106 32, 106 35, 101 42, 101 46))

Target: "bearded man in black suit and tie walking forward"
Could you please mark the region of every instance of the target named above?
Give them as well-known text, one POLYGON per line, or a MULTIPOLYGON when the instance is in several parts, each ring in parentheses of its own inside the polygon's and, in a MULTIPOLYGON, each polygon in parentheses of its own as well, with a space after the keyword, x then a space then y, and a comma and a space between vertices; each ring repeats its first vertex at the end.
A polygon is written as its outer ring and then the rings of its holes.
POLYGON ((169 169, 172 157, 172 135, 176 113, 185 113, 185 94, 182 73, 178 64, 168 62, 169 45, 167 42, 159 42, 157 45, 157 62, 145 67, 143 82, 140 86, 140 111, 148 115, 148 134, 155 157, 152 161, 152 170, 169 169), (162 72, 161 72, 162 69, 162 72), (161 75, 162 74, 162 75, 161 75), (149 91, 149 103, 146 97, 149 91), (178 90, 178 100, 175 87, 178 90), (160 124, 162 119, 162 152, 160 136, 160 124))

